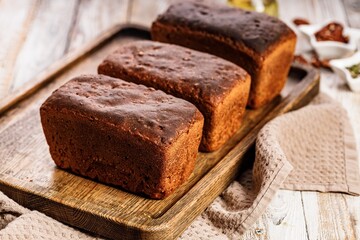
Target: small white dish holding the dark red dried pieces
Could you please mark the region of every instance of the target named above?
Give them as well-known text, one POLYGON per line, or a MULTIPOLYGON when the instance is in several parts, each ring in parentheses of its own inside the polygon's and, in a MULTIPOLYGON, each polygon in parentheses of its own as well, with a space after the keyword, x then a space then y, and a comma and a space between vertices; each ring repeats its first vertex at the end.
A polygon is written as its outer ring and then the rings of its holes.
POLYGON ((325 24, 300 25, 299 30, 310 40, 310 44, 321 60, 337 59, 351 56, 357 49, 360 40, 360 29, 344 27, 343 34, 349 37, 348 43, 336 41, 317 41, 315 33, 325 27, 325 24))

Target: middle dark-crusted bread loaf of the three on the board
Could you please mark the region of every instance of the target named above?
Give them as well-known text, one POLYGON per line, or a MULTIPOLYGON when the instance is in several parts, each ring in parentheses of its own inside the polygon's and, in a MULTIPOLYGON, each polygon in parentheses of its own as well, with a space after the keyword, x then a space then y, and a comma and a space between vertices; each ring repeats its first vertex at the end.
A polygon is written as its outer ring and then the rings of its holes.
POLYGON ((205 118, 202 151, 219 149, 239 129, 250 91, 250 76, 235 64, 152 41, 121 46, 101 63, 98 72, 193 103, 205 118))

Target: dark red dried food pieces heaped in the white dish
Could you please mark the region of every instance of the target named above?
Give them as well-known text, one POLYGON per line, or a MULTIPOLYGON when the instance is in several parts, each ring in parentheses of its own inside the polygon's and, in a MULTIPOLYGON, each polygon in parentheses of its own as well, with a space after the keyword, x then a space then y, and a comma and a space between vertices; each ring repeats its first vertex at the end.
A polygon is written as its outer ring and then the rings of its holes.
POLYGON ((344 28, 340 23, 332 22, 315 33, 317 41, 336 41, 348 43, 349 37, 343 35, 344 28))

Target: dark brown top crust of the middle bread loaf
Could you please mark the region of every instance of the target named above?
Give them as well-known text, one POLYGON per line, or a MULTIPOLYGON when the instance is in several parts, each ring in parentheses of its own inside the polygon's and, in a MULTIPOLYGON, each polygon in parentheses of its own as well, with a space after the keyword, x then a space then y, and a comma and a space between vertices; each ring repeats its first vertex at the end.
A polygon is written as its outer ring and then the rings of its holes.
POLYGON ((110 76, 116 76, 116 71, 122 72, 125 80, 129 76, 137 83, 149 82, 159 89, 166 87, 167 92, 175 96, 212 107, 249 78, 241 67, 222 58, 146 40, 122 45, 98 69, 99 73, 110 76))

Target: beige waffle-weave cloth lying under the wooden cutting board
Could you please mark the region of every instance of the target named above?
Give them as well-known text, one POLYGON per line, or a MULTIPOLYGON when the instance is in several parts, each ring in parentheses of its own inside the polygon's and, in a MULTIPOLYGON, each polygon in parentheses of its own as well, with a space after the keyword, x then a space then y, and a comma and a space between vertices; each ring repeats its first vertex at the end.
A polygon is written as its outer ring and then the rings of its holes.
MULTIPOLYGON (((265 212, 280 188, 359 195, 358 166, 346 111, 320 95, 260 131, 253 169, 217 197, 180 238, 236 238, 265 212)), ((99 238, 30 212, 0 194, 0 239, 99 238)))

